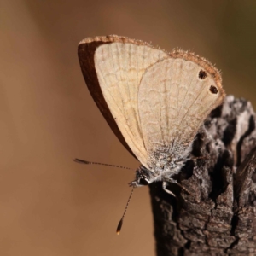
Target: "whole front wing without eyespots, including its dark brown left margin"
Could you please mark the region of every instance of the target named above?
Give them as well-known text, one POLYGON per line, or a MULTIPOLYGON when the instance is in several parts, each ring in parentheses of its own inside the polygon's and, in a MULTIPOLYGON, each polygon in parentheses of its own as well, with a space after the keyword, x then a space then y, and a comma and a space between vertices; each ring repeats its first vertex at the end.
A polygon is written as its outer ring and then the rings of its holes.
POLYGON ((87 38, 79 44, 80 65, 91 95, 121 143, 146 167, 138 88, 145 70, 168 56, 142 41, 117 36, 87 38))

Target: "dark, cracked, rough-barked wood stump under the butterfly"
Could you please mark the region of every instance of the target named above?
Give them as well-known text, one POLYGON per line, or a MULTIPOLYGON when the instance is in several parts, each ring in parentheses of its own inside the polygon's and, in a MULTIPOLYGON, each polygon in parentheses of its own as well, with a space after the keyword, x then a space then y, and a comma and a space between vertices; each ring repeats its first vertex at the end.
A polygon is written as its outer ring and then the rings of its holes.
POLYGON ((250 102, 227 96, 168 189, 150 185, 157 255, 256 255, 256 130, 250 102))

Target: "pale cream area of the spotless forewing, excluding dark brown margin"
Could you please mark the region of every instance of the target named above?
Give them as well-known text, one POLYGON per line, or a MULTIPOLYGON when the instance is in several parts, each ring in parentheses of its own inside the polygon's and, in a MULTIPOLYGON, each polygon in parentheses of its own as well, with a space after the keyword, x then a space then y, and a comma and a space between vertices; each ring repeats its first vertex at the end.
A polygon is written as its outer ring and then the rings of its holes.
POLYGON ((138 115, 138 90, 145 70, 168 57, 147 45, 112 43, 96 49, 95 66, 105 101, 126 143, 137 159, 148 166, 138 115))

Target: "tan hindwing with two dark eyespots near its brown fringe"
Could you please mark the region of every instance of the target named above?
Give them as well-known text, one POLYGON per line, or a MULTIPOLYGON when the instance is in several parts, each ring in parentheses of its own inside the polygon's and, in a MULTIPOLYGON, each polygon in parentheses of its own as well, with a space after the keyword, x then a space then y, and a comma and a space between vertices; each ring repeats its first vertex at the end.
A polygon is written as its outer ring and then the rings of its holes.
POLYGON ((195 55, 180 52, 144 73, 138 109, 145 148, 184 154, 204 119, 224 99, 218 71, 195 55))

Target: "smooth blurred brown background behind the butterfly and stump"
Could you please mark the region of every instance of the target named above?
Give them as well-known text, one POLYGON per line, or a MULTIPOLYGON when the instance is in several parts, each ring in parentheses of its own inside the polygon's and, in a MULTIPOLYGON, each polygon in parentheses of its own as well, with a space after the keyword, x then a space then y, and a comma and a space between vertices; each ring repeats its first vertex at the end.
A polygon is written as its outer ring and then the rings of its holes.
POLYGON ((84 83, 77 45, 108 34, 191 49, 222 70, 228 94, 256 100, 256 2, 0 1, 0 254, 154 255, 148 188, 84 83))

